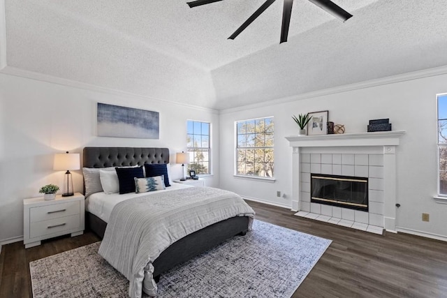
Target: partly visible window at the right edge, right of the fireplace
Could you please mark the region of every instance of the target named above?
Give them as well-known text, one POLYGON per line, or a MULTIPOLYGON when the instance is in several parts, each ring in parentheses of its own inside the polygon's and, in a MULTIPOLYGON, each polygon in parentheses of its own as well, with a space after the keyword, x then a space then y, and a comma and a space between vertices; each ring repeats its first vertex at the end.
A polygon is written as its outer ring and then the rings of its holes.
POLYGON ((439 195, 447 196, 447 94, 437 96, 438 100, 438 173, 439 195))

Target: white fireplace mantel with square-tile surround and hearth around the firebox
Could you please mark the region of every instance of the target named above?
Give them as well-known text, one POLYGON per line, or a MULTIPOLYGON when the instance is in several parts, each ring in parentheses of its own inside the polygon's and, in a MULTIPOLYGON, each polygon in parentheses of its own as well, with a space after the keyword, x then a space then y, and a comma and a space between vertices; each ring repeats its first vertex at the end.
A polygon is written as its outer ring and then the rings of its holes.
POLYGON ((286 137, 292 150, 292 210, 298 216, 396 232, 396 147, 404 131, 286 137), (310 173, 368 177, 369 212, 310 202, 310 173), (351 224, 349 224, 351 223, 351 224))

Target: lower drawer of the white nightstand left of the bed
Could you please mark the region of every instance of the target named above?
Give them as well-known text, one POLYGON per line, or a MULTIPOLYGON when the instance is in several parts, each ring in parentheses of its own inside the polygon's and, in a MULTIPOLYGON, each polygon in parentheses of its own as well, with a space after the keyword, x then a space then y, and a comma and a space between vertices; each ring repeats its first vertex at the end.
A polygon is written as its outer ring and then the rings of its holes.
POLYGON ((47 234, 53 234, 65 230, 72 230, 80 227, 80 214, 66 216, 62 218, 53 218, 47 221, 39 221, 30 224, 29 237, 41 237, 47 234))

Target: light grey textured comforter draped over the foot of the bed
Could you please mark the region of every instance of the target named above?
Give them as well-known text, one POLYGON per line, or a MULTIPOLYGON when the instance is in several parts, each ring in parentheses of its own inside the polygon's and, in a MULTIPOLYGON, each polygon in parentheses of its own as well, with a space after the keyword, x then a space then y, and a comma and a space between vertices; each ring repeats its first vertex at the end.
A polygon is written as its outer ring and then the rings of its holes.
POLYGON ((143 289, 156 296, 152 262, 188 234, 254 211, 239 195, 217 188, 186 188, 119 202, 110 215, 98 253, 129 279, 129 296, 143 289))

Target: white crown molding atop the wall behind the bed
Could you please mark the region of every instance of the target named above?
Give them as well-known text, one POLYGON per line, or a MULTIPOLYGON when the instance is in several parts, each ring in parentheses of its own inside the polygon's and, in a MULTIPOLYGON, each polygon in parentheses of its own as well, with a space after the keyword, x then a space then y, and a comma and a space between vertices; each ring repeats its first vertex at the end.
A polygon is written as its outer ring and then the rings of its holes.
POLYGON ((75 80, 68 80, 68 79, 64 79, 61 77, 54 77, 52 75, 45 75, 43 73, 35 73, 30 70, 23 70, 21 68, 16 68, 13 66, 6 66, 5 68, 0 70, 0 73, 4 73, 6 75, 13 75, 16 77, 26 77, 31 80, 49 82, 49 83, 53 83, 53 84, 59 84, 59 85, 64 85, 64 86, 78 88, 78 89, 85 89, 85 90, 96 91, 96 92, 101 92, 101 93, 105 93, 105 94, 112 94, 115 96, 132 96, 135 98, 140 98, 142 100, 154 100, 154 101, 157 101, 157 102, 163 103, 163 104, 179 105, 182 107, 188 107, 188 108, 195 109, 195 110, 211 112, 213 114, 219 114, 218 110, 210 109, 207 107, 199 107, 198 105, 189 105, 186 103, 178 103, 175 101, 164 100, 161 98, 154 98, 151 96, 142 96, 139 94, 133 94, 131 92, 121 91, 121 90, 117 90, 117 89, 99 87, 94 84, 87 84, 87 83, 78 82, 75 80))

